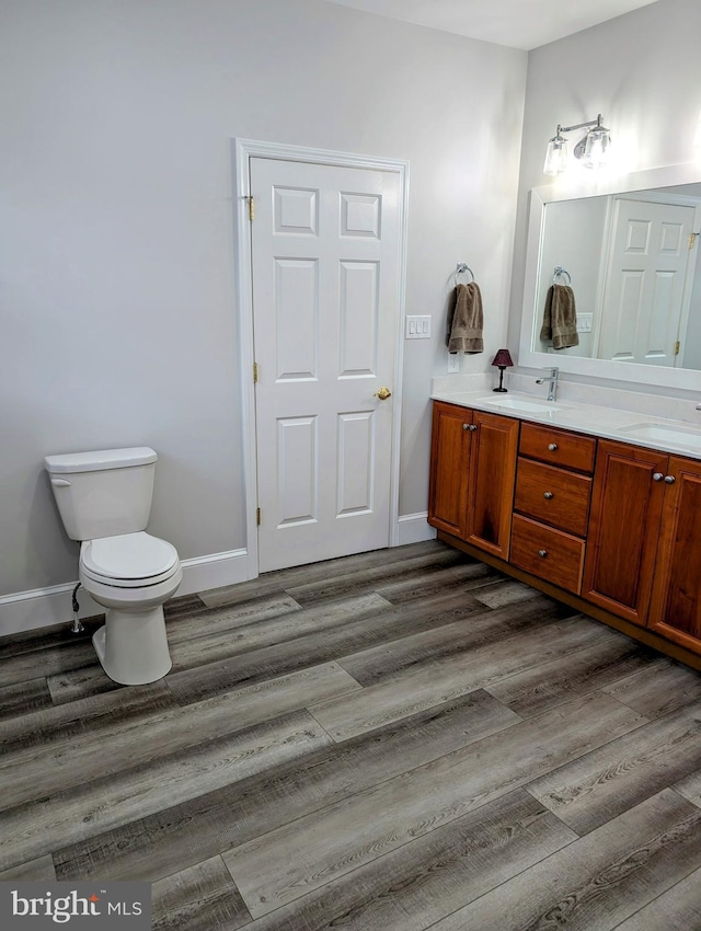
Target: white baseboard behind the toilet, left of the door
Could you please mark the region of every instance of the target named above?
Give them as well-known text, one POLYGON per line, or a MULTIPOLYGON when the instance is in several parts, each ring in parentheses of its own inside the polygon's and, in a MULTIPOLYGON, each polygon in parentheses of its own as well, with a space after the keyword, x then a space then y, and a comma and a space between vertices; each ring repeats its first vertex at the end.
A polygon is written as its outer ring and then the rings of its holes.
MULTIPOLYGON (((206 591, 209 588, 220 588, 223 585, 237 585, 249 578, 246 550, 197 556, 183 560, 181 564, 183 581, 175 597, 206 591)), ((0 597, 0 636, 72 622, 70 596, 77 585, 78 581, 67 582, 48 588, 34 588, 31 591, 18 591, 14 595, 0 597)), ((82 587, 78 590, 78 601, 81 618, 104 613, 104 608, 93 601, 82 587)))

